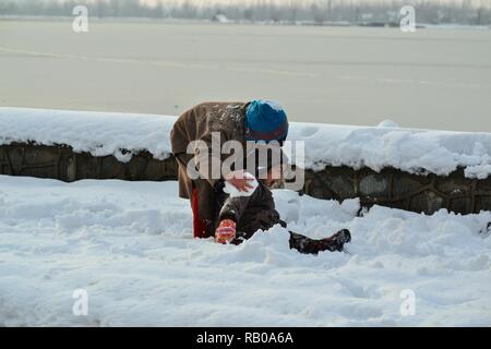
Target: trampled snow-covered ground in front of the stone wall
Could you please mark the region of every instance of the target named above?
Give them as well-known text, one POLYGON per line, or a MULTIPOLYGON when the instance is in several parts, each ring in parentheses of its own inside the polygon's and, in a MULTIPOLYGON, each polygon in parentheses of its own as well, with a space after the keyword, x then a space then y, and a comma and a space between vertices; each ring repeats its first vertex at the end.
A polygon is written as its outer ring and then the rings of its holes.
POLYGON ((356 217, 356 200, 274 195, 292 230, 350 229, 347 253, 301 255, 278 227, 193 240, 176 182, 0 176, 0 326, 491 325, 490 212, 356 217))

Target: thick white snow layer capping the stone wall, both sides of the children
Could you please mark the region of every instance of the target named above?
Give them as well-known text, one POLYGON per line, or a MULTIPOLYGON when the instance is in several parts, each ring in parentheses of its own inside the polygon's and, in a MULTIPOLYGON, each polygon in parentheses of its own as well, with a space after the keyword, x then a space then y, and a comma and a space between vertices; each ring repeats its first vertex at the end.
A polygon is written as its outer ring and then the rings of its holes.
MULTIPOLYGON (((70 145, 94 156, 115 155, 129 161, 148 151, 157 159, 170 154, 176 117, 0 107, 0 145, 36 142, 70 145), (128 152, 122 152, 122 149, 128 152)), ((306 141, 306 167, 325 165, 394 167, 410 173, 446 176, 458 167, 468 178, 491 174, 491 133, 291 122, 288 140, 306 141)))

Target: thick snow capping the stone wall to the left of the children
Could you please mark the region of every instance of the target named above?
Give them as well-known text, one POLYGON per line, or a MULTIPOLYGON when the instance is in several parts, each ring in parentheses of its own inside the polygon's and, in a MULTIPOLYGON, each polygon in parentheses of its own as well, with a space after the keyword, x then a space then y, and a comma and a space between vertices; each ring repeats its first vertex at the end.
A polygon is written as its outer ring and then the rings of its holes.
POLYGON ((124 163, 148 151, 165 159, 171 152, 169 134, 175 121, 175 117, 155 115, 0 107, 0 144, 63 144, 76 153, 115 155, 124 163))

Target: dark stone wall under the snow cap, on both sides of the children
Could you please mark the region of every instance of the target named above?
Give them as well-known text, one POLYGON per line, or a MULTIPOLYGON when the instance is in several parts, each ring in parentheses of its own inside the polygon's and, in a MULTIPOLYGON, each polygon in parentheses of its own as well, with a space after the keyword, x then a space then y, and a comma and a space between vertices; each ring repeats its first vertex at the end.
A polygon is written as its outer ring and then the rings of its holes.
MULTIPOLYGON (((176 170, 172 157, 156 160, 145 152, 124 164, 113 156, 76 154, 68 146, 19 143, 0 146, 0 174, 69 182, 81 179, 165 181, 175 180, 176 170)), ((439 177, 409 174, 393 168, 375 172, 368 168, 326 167, 319 172, 306 171, 303 193, 338 201, 360 197, 363 206, 378 204, 426 214, 442 207, 462 214, 491 210, 491 177, 467 179, 462 169, 439 177)))

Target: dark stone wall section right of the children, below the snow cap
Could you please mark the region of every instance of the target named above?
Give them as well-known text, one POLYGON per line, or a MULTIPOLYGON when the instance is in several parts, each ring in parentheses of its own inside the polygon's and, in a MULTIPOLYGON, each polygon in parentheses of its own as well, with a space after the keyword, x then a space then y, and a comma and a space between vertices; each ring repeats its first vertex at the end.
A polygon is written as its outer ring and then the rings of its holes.
POLYGON ((459 169, 447 177, 416 176, 394 168, 380 172, 363 168, 327 167, 306 172, 304 192, 319 198, 360 197, 374 204, 432 214, 440 208, 462 214, 491 210, 491 177, 468 179, 459 169))

